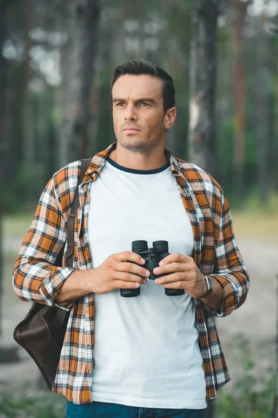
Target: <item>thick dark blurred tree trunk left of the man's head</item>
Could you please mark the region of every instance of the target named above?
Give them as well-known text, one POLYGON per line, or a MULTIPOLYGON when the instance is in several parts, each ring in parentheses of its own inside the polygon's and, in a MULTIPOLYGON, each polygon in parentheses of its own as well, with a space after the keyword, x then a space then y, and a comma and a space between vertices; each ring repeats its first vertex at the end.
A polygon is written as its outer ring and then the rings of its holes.
POLYGON ((66 93, 60 132, 60 166, 88 157, 90 92, 95 63, 99 0, 70 0, 67 17, 67 50, 64 68, 66 93))

